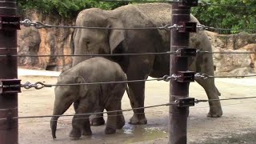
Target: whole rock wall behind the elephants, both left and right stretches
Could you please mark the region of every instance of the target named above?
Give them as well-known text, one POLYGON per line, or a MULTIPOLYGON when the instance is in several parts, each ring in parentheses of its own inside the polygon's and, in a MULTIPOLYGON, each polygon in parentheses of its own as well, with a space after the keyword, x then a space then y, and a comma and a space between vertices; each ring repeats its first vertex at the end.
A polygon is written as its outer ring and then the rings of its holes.
MULTIPOLYGON (((75 18, 62 19, 55 15, 44 15, 36 11, 24 14, 22 19, 30 19, 51 25, 74 25, 75 18)), ((18 54, 50 55, 71 54, 70 38, 74 29, 36 29, 24 27, 18 30, 18 54)), ((207 31, 214 51, 256 52, 256 34, 215 34, 207 31)), ((70 67, 71 57, 21 57, 18 66, 38 70, 62 70, 70 67)), ((244 75, 255 72, 255 54, 214 54, 216 75, 244 75)))

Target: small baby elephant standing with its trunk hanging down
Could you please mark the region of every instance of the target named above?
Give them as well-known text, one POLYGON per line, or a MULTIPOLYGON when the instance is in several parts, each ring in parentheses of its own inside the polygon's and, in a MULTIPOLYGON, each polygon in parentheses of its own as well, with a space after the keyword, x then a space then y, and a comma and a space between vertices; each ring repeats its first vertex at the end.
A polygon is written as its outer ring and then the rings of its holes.
MULTIPOLYGON (((54 113, 50 127, 53 138, 56 138, 57 121, 74 102, 75 115, 72 120, 71 138, 80 138, 81 135, 90 135, 90 115, 98 107, 107 111, 121 110, 122 95, 126 90, 126 74, 121 67, 106 58, 90 58, 78 63, 76 66, 62 72, 58 77, 58 86, 55 87, 54 113), (91 82, 113 82, 100 84, 83 84, 91 82), (114 83, 116 82, 116 83, 114 83), (65 84, 74 84, 65 86, 65 84), (63 86, 59 86, 63 85, 63 86)), ((107 114, 106 134, 115 133, 125 125, 122 112, 107 114)))

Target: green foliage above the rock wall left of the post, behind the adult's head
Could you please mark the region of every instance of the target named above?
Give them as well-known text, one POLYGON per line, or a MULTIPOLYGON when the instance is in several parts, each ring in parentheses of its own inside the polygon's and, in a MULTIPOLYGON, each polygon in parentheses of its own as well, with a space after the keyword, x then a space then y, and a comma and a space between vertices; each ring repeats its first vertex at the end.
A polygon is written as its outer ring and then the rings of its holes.
POLYGON ((112 10, 127 2, 98 2, 97 0, 18 0, 22 10, 39 10, 45 14, 60 14, 64 18, 75 16, 79 11, 91 7, 112 10))

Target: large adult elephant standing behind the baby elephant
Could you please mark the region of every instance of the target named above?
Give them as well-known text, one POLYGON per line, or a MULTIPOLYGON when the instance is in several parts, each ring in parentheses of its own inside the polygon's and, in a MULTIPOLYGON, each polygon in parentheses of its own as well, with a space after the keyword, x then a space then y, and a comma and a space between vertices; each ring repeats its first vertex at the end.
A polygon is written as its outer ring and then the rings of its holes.
MULTIPOLYGON (((115 10, 97 8, 82 10, 78 14, 76 26, 96 27, 155 27, 171 24, 169 4, 154 3, 121 6, 115 10)), ((191 15, 192 22, 198 22, 191 15)), ((198 22, 199 23, 199 22, 198 22)), ((170 51, 170 31, 168 30, 95 30, 77 29, 74 31, 74 54, 116 54, 147 53, 170 51)), ((190 47, 212 51, 210 40, 202 30, 190 34, 190 47)), ((90 58, 90 57, 86 57, 90 58)), ((85 57, 75 57, 73 66, 85 57)), ((128 80, 146 79, 148 76, 162 78, 170 74, 170 56, 166 55, 130 55, 111 57, 122 66, 128 80)), ((190 58, 190 70, 214 75, 212 54, 198 54, 190 58)), ((218 99, 220 93, 214 84, 214 78, 196 80, 206 90, 209 99, 218 99)), ((145 82, 130 82, 130 104, 133 108, 144 106, 145 82)), ((210 101, 209 117, 221 117, 222 107, 219 101, 210 101)), ((94 119, 93 125, 103 124, 103 119, 94 119)), ((131 124, 146 124, 144 110, 134 110, 131 124), (136 114, 137 113, 137 114, 136 114)))

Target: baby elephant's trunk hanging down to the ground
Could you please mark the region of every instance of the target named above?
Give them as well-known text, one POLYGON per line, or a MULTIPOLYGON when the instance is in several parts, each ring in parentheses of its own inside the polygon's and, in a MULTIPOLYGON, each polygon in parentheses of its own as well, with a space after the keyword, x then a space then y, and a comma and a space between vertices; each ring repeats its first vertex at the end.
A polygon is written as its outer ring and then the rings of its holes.
POLYGON ((52 117, 50 120, 50 128, 53 138, 56 138, 57 121, 59 115, 64 114, 66 110, 71 106, 71 104, 72 101, 70 100, 70 98, 55 99, 53 115, 56 116, 52 117))

